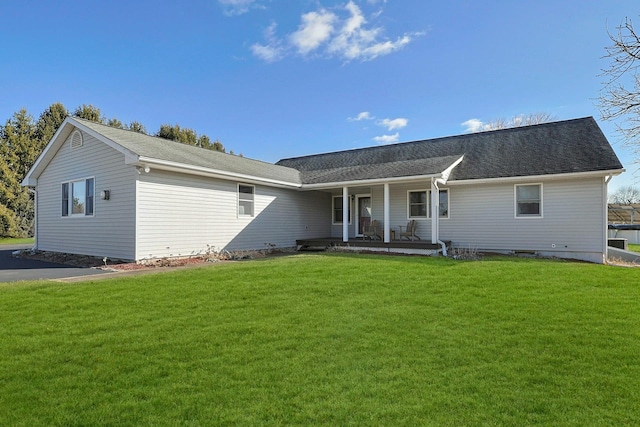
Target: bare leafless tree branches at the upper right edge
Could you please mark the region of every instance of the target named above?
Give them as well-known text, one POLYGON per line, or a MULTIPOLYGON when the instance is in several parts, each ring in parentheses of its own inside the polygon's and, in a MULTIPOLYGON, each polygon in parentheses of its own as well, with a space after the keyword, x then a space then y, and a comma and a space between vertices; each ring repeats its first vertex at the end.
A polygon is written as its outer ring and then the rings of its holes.
POLYGON ((640 36, 633 29, 631 19, 609 33, 612 45, 603 57, 610 60, 602 70, 606 78, 600 91, 599 108, 603 120, 621 119, 618 131, 625 143, 635 147, 640 156, 640 36))

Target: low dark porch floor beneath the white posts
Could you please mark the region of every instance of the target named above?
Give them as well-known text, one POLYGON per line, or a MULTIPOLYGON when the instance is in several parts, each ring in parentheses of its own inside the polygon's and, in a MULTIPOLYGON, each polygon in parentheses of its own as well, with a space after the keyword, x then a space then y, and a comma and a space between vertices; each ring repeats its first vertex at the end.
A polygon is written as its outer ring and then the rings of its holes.
MULTIPOLYGON (((451 242, 444 242, 447 247, 451 242)), ((441 246, 433 244, 427 240, 392 240, 385 243, 383 240, 363 239, 362 237, 350 238, 348 242, 343 242, 339 237, 324 237, 318 239, 296 240, 299 251, 322 251, 329 248, 338 247, 345 249, 364 249, 376 252, 397 252, 397 253, 424 253, 439 251, 441 246)))

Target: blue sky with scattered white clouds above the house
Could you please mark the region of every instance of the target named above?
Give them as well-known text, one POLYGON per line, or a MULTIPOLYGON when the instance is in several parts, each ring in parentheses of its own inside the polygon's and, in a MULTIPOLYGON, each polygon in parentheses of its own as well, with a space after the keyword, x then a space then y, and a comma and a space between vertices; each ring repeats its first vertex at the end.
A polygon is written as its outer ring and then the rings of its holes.
POLYGON ((601 57, 607 29, 639 14, 637 0, 2 2, 0 119, 93 104, 275 162, 594 116, 630 171, 611 190, 640 177, 599 120, 601 57))

